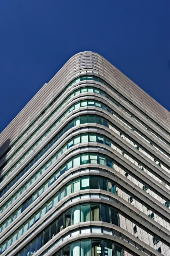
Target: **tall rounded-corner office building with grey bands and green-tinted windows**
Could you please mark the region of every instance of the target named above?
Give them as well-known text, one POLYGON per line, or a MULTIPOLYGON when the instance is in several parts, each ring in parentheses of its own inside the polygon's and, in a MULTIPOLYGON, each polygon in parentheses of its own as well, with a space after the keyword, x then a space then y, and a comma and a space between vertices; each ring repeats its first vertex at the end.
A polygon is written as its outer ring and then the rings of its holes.
POLYGON ((0 137, 1 256, 170 255, 170 113, 93 52, 0 137))

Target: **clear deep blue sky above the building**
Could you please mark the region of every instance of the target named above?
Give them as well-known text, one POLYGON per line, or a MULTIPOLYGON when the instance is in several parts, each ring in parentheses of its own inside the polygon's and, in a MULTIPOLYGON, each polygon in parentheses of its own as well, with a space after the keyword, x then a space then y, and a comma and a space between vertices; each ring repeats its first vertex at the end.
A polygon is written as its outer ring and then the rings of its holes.
POLYGON ((170 111, 169 0, 4 0, 0 132, 80 51, 115 65, 170 111))

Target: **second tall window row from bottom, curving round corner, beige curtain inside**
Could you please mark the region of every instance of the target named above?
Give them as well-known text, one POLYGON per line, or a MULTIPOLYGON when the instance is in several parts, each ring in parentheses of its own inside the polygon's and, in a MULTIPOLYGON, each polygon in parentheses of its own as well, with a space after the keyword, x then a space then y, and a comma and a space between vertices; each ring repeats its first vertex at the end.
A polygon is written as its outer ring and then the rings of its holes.
MULTIPOLYGON (((64 228, 76 224, 78 222, 84 221, 104 221, 108 223, 112 223, 114 225, 120 225, 123 229, 127 230, 131 234, 135 235, 138 232, 138 238, 154 248, 155 245, 159 243, 159 247, 162 248, 163 255, 166 255, 166 251, 169 250, 169 246, 164 244, 158 237, 155 235, 151 235, 150 231, 144 229, 140 224, 134 223, 132 220, 128 220, 126 216, 119 213, 112 206, 110 207, 107 204, 100 203, 83 203, 80 205, 73 206, 69 208, 64 213, 57 217, 57 220, 54 220, 48 227, 44 229, 34 241, 39 240, 42 247, 46 244, 52 237, 54 237, 58 232, 63 230, 64 228), (124 225, 126 223, 126 226, 124 225)), ((98 231, 97 231, 98 232, 98 231)), ((11 237, 11 240, 13 237, 11 237)), ((30 244, 30 243, 29 243, 30 244)), ((1 247, 0 253, 3 252, 7 248, 5 243, 1 247)), ((156 249, 156 248, 155 248, 156 249)))

